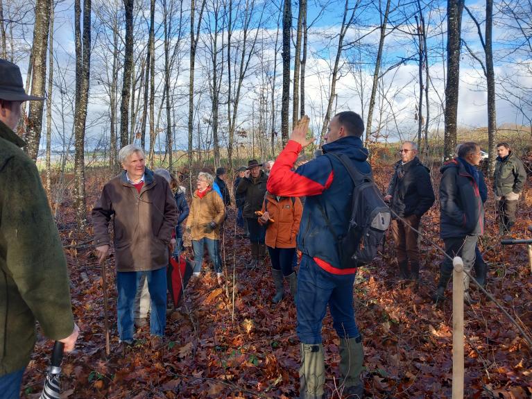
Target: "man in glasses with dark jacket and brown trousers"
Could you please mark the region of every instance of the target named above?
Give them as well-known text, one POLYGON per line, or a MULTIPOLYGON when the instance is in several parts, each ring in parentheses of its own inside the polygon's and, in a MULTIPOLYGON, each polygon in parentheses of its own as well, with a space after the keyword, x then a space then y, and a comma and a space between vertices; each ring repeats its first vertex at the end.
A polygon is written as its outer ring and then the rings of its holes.
POLYGON ((421 217, 434 204, 430 171, 417 155, 417 144, 402 144, 401 160, 395 164, 395 172, 384 197, 386 201, 391 201, 390 207, 395 212, 392 215, 392 234, 400 278, 413 280, 419 280, 420 276, 420 250, 418 233, 411 227, 418 230, 421 217))

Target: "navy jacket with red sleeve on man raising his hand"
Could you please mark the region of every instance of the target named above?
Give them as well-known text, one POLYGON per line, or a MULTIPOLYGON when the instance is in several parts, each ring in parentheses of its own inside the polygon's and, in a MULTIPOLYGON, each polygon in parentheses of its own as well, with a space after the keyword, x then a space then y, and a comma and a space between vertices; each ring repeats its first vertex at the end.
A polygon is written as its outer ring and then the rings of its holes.
POLYGON ((370 173, 368 151, 359 137, 347 136, 325 144, 323 156, 292 171, 302 147, 289 141, 275 160, 268 179, 268 192, 280 196, 307 196, 298 234, 298 248, 325 271, 355 273, 355 267, 341 265, 338 237, 347 232, 351 216, 353 182, 343 164, 327 153, 345 154, 354 167, 370 173), (327 215, 330 227, 323 217, 327 215))

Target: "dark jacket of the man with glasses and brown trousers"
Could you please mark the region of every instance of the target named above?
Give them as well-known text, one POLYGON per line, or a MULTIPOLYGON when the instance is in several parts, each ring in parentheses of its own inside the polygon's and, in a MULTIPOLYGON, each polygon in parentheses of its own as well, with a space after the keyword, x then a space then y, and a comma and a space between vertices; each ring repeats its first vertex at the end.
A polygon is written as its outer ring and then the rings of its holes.
MULTIPOLYGON (((395 172, 386 194, 392 196, 391 208, 400 217, 415 214, 418 218, 434 204, 434 190, 429 168, 418 157, 395 164, 395 172)), ((392 215, 395 218, 395 215, 392 215)))

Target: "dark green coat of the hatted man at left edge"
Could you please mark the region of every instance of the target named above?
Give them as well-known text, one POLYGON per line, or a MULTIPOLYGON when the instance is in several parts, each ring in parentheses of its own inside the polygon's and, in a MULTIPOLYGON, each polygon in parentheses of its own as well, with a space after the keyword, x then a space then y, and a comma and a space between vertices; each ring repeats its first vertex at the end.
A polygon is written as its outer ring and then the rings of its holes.
POLYGON ((35 163, 0 121, 0 376, 27 366, 35 321, 49 339, 74 330, 67 262, 35 163))

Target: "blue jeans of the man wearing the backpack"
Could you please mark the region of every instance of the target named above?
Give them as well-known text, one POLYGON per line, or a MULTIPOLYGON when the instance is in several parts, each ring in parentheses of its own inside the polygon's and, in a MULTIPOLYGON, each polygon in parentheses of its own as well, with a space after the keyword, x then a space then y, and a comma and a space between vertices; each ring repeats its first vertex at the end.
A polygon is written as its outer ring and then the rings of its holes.
POLYGON ((360 336, 354 321, 354 273, 337 275, 329 273, 308 255, 303 255, 298 273, 298 327, 296 332, 302 343, 321 343, 322 321, 331 312, 333 327, 341 338, 360 336))

